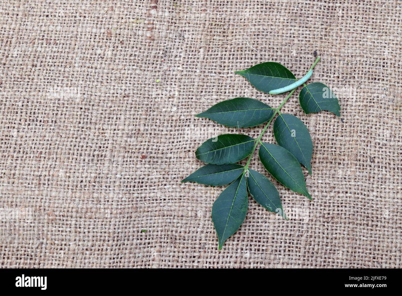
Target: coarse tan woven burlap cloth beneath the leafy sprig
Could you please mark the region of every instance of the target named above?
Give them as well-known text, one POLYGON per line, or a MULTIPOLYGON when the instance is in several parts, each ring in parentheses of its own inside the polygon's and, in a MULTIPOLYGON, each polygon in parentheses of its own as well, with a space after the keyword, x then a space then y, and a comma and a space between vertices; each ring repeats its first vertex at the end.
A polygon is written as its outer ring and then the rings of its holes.
MULTIPOLYGON (((1 267, 401 267, 400 1, 3 0, 0 12, 1 267), (202 166, 201 143, 239 131, 194 115, 238 96, 279 106, 286 94, 233 71, 276 61, 300 78, 314 51, 310 82, 333 89, 341 117, 304 114, 300 89, 282 108, 310 131, 314 200, 274 182, 290 219, 250 200, 218 251, 224 187, 180 180, 202 166)), ((251 168, 273 180, 258 157, 251 168)))

